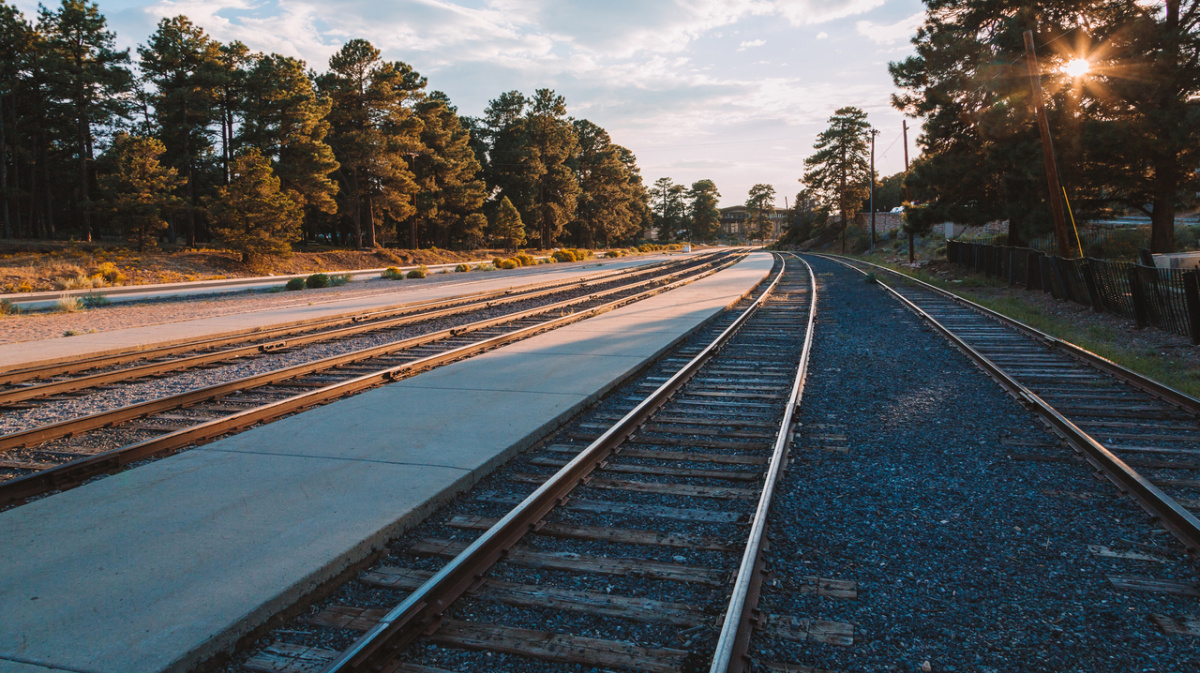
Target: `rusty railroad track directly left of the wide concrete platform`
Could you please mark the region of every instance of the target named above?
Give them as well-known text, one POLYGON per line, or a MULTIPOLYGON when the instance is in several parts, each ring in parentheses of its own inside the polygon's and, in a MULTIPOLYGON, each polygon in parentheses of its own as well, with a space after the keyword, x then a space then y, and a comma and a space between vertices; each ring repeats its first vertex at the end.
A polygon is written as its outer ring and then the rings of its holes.
MULTIPOLYGON (((0 482, 0 506, 668 292, 738 258, 719 256, 654 272, 622 274, 604 289, 589 280, 580 296, 2 435, 0 469, 10 479, 0 482)), ((532 294, 541 298, 562 289, 538 288, 532 294)), ((488 299, 434 313, 491 308, 497 301, 510 304, 509 299, 529 296, 488 299)), ((420 318, 385 322, 410 319, 420 318)))

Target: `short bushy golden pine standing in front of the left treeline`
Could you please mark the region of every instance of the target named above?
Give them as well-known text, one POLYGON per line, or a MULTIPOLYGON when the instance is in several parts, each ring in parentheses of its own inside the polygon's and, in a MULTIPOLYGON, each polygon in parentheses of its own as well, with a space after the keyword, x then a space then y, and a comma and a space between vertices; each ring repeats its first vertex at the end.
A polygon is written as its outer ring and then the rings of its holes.
POLYGON ((209 206, 217 239, 241 253, 244 263, 292 252, 300 240, 300 206, 280 190, 271 162, 257 148, 234 157, 229 185, 209 206))

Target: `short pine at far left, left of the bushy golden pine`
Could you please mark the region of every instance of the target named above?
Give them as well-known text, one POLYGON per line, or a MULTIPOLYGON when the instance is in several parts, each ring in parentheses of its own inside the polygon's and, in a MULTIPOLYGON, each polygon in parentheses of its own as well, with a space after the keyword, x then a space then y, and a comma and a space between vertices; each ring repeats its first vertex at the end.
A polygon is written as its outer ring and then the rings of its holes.
POLYGON ((166 151, 156 138, 119 134, 102 157, 101 190, 125 239, 138 246, 138 252, 155 246, 167 229, 164 211, 179 205, 172 194, 182 180, 174 168, 158 162, 166 151))

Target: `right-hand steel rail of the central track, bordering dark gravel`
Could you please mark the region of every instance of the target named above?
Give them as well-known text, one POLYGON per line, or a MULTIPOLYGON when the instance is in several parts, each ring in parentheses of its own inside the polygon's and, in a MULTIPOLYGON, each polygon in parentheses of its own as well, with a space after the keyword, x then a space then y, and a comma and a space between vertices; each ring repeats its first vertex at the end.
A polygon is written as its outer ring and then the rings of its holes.
MULTIPOLYGON (((794 256, 793 256, 794 257, 794 256)), ((784 419, 779 426, 779 434, 775 435, 775 444, 770 452, 770 467, 767 470, 767 482, 762 494, 758 497, 758 505, 755 510, 754 521, 750 524, 745 552, 742 555, 742 564, 738 566, 737 578, 733 581, 733 593, 730 596, 728 607, 725 609, 725 623, 721 625, 721 633, 718 637, 716 647, 713 650, 713 662, 709 673, 740 673, 748 669, 746 647, 750 643, 750 635, 756 625, 756 612, 758 607, 758 595, 762 589, 766 561, 763 551, 767 547, 767 517, 770 513, 772 498, 775 494, 775 485, 784 471, 787 462, 787 451, 791 444, 792 431, 794 429, 796 415, 800 410, 800 401, 804 397, 804 383, 809 373, 809 354, 812 350, 812 332, 817 314, 817 278, 812 272, 812 266, 797 257, 809 270, 809 322, 804 329, 804 347, 800 350, 800 362, 796 371, 796 379, 792 383, 792 391, 787 398, 787 407, 784 410, 784 419)))

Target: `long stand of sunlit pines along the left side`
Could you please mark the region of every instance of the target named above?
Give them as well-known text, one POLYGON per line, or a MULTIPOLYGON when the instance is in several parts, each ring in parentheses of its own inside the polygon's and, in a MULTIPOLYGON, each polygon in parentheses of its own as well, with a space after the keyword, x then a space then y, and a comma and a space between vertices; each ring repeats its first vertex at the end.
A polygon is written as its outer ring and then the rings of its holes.
POLYGON ((473 119, 365 40, 317 73, 180 16, 133 56, 94 2, 36 23, 0 2, 6 239, 212 241, 247 259, 299 240, 612 245, 652 224, 648 197, 634 154, 551 90, 473 119))

